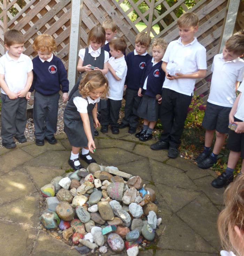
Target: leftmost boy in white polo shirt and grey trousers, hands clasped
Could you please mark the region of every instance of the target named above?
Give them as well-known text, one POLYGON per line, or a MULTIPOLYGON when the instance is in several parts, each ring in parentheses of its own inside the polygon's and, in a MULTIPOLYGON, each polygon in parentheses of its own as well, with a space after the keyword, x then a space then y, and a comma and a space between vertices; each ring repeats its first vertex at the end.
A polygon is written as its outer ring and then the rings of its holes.
POLYGON ((32 62, 23 54, 24 36, 12 29, 4 34, 7 52, 0 58, 0 87, 2 100, 2 145, 14 148, 26 142, 26 94, 33 80, 32 62))

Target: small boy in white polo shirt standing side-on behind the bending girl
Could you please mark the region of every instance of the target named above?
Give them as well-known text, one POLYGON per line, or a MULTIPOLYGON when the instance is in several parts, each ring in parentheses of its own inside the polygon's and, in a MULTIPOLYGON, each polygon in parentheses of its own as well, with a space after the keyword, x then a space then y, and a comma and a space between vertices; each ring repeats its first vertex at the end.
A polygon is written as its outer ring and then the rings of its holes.
POLYGON ((127 47, 123 38, 114 38, 109 43, 110 54, 108 70, 106 74, 109 84, 107 108, 101 109, 101 132, 108 132, 111 125, 112 133, 119 133, 118 119, 123 98, 124 81, 127 73, 127 65, 124 52, 127 47))

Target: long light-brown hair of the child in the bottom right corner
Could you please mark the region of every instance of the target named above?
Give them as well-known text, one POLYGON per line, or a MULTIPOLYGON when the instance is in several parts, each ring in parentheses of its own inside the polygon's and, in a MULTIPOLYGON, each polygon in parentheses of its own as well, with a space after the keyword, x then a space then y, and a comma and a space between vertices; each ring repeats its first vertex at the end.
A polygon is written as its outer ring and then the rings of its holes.
POLYGON ((224 191, 224 205, 217 223, 219 237, 222 247, 235 253, 230 243, 236 236, 234 227, 244 232, 244 174, 238 175, 224 191))

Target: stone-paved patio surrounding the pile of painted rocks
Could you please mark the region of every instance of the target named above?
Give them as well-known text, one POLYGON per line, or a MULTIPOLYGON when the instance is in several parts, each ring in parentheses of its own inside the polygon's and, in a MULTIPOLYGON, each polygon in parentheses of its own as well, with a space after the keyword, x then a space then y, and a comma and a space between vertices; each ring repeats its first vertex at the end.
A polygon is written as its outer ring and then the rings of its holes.
MULTIPOLYGON (((40 147, 26 142, 11 150, 0 148, 1 255, 81 255, 49 232, 38 229, 43 211, 39 208, 40 188, 70 168, 69 141, 65 134, 56 138, 55 145, 45 141, 40 147)), ((216 174, 181 157, 169 159, 167 151, 153 151, 150 145, 154 142, 141 143, 127 129, 116 135, 99 132, 95 139, 97 151, 93 157, 98 164, 139 175, 156 192, 162 218, 156 230, 158 242, 139 255, 218 255, 221 248, 216 220, 224 189, 211 186, 216 174)), ((127 255, 126 251, 120 255, 127 255)))

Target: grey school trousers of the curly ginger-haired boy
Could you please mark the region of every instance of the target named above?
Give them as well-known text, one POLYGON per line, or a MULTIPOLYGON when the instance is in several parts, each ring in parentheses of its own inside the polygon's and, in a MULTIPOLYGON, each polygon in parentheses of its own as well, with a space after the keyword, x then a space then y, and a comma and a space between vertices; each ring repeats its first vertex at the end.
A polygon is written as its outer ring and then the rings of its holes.
POLYGON ((33 121, 36 139, 51 139, 57 131, 59 93, 43 95, 35 92, 33 121))

